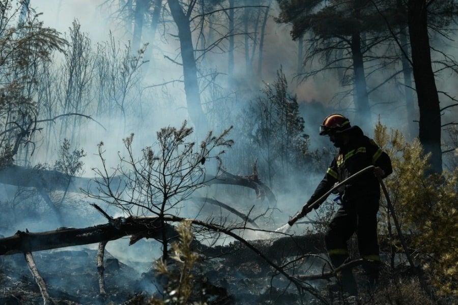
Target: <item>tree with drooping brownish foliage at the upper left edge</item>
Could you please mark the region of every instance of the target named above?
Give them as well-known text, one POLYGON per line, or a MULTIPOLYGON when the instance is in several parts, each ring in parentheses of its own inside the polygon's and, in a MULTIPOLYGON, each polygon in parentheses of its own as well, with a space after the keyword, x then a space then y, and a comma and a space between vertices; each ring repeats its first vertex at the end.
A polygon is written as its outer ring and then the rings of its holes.
POLYGON ((7 158, 11 160, 19 144, 33 143, 33 133, 40 130, 36 124, 37 105, 32 99, 40 75, 38 67, 48 63, 55 50, 62 51, 66 41, 55 29, 43 27, 39 14, 31 11, 28 19, 17 23, 20 6, 10 0, 1 6, 0 147, 11 146, 7 158))

